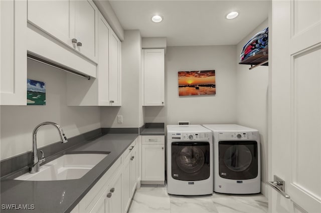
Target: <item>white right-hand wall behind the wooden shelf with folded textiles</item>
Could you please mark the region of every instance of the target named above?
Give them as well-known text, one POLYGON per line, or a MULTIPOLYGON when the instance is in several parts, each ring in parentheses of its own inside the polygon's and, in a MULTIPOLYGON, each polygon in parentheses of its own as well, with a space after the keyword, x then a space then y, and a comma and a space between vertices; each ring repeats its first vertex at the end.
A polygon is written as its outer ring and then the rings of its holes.
MULTIPOLYGON (((238 124, 256 128, 260 132, 262 182, 267 181, 268 177, 268 66, 258 66, 249 70, 250 65, 238 62, 243 45, 267 26, 268 19, 241 40, 236 51, 236 119, 238 124)), ((265 187, 262 187, 262 193, 267 193, 265 187)))

